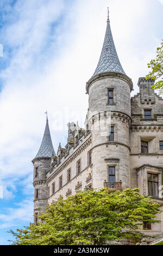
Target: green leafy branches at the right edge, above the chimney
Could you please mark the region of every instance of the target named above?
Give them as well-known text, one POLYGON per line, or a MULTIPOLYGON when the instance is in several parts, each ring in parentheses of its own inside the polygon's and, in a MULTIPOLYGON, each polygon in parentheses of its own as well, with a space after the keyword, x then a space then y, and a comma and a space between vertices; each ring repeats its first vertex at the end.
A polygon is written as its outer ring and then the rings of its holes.
POLYGON ((158 80, 152 88, 158 89, 159 94, 163 93, 163 40, 161 42, 160 47, 156 50, 156 58, 152 59, 151 62, 148 63, 148 68, 152 69, 149 74, 146 76, 146 80, 152 78, 154 80, 158 80))

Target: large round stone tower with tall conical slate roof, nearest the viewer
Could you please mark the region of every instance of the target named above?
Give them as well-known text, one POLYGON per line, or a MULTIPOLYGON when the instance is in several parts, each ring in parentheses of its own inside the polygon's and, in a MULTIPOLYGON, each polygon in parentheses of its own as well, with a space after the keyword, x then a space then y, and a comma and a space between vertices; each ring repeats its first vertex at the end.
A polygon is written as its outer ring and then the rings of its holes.
POLYGON ((130 92, 133 82, 118 59, 110 29, 109 10, 104 44, 95 73, 86 83, 92 130, 92 187, 130 187, 130 92), (112 186, 112 185, 111 185, 112 186))

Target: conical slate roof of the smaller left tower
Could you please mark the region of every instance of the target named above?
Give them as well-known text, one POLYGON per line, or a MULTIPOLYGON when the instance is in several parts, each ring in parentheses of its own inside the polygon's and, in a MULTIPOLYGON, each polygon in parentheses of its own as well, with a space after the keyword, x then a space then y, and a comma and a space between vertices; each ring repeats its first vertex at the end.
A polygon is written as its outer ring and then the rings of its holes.
POLYGON ((52 152, 55 155, 55 151, 54 151, 53 144, 52 144, 52 139, 51 139, 51 133, 50 133, 50 130, 49 130, 49 125, 48 125, 48 119, 46 119, 45 132, 44 132, 44 135, 43 135, 43 139, 42 139, 42 142, 41 142, 39 152, 37 153, 35 158, 37 158, 37 157, 51 157, 52 152))

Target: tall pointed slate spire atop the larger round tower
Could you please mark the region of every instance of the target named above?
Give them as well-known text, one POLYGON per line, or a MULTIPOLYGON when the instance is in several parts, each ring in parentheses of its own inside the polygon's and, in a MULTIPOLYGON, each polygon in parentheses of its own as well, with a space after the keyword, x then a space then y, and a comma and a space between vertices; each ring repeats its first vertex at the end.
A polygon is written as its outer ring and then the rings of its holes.
POLYGON ((116 48, 114 45, 114 40, 112 38, 109 20, 109 8, 104 44, 97 68, 93 76, 104 72, 118 72, 126 75, 121 66, 120 60, 118 59, 116 48))

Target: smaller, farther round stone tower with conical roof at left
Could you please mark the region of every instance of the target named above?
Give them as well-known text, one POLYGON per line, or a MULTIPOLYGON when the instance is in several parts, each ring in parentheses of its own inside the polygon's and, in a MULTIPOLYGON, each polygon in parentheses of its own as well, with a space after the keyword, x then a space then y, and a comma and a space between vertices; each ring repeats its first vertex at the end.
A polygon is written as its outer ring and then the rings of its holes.
MULTIPOLYGON (((35 158, 32 160, 34 165, 33 186, 35 188, 34 215, 38 215, 39 211, 44 212, 47 206, 48 191, 46 184, 46 174, 50 168, 52 153, 55 155, 47 118, 45 132, 40 149, 35 158)), ((36 222, 37 217, 35 216, 34 223, 36 222)))

